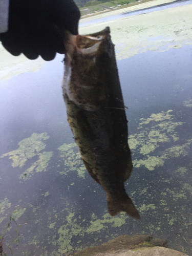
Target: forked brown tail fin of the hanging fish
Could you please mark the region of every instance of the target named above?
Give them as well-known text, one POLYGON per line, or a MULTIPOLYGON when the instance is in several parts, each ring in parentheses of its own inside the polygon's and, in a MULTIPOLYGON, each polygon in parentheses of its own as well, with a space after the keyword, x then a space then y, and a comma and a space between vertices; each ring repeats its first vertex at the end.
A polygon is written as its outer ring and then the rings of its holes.
POLYGON ((119 214, 121 211, 125 211, 128 215, 133 218, 140 219, 139 212, 134 206, 131 198, 126 195, 122 199, 114 198, 112 195, 107 194, 108 210, 111 216, 119 214))

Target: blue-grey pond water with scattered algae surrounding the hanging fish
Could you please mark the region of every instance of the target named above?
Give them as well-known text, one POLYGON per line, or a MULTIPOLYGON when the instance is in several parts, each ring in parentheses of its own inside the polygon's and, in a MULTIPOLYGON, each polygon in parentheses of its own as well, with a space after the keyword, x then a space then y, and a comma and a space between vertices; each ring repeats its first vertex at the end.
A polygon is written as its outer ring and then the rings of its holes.
POLYGON ((110 217, 67 123, 62 56, 1 81, 0 222, 7 255, 58 256, 121 234, 152 234, 192 254, 191 46, 118 61, 140 211, 110 217), (11 250, 10 250, 11 249, 11 250))

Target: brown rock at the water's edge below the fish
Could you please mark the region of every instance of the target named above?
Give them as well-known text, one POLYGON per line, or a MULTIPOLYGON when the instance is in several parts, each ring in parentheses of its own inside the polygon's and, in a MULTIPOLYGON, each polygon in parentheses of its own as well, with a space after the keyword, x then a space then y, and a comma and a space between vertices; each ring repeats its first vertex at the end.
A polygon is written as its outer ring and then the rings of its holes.
POLYGON ((76 252, 74 256, 187 256, 173 250, 166 240, 146 235, 120 236, 99 246, 76 252))

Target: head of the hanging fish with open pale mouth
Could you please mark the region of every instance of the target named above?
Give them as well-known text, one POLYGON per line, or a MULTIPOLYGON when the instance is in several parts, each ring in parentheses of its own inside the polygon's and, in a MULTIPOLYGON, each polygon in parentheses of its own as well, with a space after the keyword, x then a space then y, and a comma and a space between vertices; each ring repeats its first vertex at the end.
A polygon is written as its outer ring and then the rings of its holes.
POLYGON ((66 35, 63 91, 80 108, 95 111, 108 97, 100 61, 111 38, 110 29, 91 35, 66 35))

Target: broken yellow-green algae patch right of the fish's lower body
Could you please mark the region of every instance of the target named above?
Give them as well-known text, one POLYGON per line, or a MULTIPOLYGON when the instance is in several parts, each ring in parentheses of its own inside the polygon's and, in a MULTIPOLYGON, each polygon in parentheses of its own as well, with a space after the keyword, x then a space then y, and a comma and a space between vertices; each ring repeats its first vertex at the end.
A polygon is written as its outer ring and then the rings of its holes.
POLYGON ((169 145, 170 142, 179 140, 176 129, 182 125, 182 122, 176 122, 172 112, 172 110, 162 111, 153 113, 148 118, 140 119, 141 122, 137 130, 141 131, 129 137, 129 145, 133 155, 139 153, 142 156, 141 159, 137 157, 133 160, 134 167, 144 166, 148 170, 154 170, 156 167, 163 166, 165 159, 188 154, 186 150, 191 143, 190 140, 183 145, 166 148, 159 156, 155 154, 161 145, 164 146, 166 143, 169 145), (151 155, 152 153, 153 155, 151 155))

